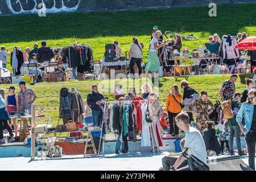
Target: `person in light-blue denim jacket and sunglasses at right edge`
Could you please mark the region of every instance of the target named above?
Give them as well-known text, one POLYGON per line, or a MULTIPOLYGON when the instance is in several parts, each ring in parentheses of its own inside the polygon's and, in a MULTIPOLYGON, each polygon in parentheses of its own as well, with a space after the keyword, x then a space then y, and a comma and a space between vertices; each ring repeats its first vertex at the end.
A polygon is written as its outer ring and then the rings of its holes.
POLYGON ((249 153, 249 167, 255 170, 255 143, 256 143, 256 89, 250 90, 247 101, 238 111, 237 122, 242 133, 246 134, 245 140, 249 153), (242 125, 242 118, 245 126, 242 125))

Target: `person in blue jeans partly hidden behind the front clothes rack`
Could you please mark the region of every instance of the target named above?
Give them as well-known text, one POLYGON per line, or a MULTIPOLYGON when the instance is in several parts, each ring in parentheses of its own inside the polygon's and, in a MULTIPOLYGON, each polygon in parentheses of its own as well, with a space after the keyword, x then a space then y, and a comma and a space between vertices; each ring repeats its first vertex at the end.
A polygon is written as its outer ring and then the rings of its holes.
MULTIPOLYGON (((125 101, 125 98, 123 97, 120 97, 119 100, 118 100, 118 105, 119 105, 119 109, 122 110, 123 109, 123 101, 125 101)), ((120 125, 118 126, 119 129, 118 129, 118 137, 117 137, 117 143, 115 143, 115 154, 119 154, 119 150, 120 150, 120 147, 122 145, 122 153, 125 154, 128 152, 128 140, 127 140, 127 133, 126 135, 124 135, 124 132, 123 132, 123 114, 120 114, 120 113, 123 113, 122 111, 119 111, 119 123, 120 125)))

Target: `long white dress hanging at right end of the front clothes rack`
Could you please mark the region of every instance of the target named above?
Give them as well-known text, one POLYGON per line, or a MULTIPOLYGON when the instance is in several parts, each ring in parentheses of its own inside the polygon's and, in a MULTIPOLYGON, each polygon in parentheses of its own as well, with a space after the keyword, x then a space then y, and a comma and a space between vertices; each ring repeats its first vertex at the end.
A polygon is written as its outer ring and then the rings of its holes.
POLYGON ((141 146, 142 147, 150 147, 151 141, 150 141, 150 123, 146 122, 146 110, 147 105, 142 104, 141 105, 141 111, 142 111, 142 133, 141 133, 141 146))

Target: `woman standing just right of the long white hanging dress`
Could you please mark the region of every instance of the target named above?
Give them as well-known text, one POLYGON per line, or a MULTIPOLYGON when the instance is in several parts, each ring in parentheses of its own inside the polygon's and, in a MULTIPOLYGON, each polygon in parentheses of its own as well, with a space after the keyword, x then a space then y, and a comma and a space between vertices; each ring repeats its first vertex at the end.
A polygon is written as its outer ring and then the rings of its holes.
MULTIPOLYGON (((150 108, 151 108, 151 120, 152 120, 152 140, 154 144, 154 151, 158 152, 158 147, 163 146, 162 135, 160 131, 160 121, 158 118, 158 111, 160 109, 160 104, 158 101, 158 96, 155 93, 150 93, 148 96, 148 100, 150 101, 150 108)), ((152 152, 154 152, 152 151, 152 152)))

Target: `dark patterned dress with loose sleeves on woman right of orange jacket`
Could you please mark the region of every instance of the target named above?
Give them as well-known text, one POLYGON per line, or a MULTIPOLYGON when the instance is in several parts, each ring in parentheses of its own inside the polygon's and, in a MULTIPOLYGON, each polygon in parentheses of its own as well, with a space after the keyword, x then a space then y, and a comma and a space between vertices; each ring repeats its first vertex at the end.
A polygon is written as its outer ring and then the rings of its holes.
POLYGON ((203 134, 204 129, 207 128, 206 122, 209 121, 208 108, 209 106, 214 109, 214 104, 210 100, 203 101, 201 98, 197 99, 188 108, 193 111, 193 107, 196 107, 196 128, 203 134))

